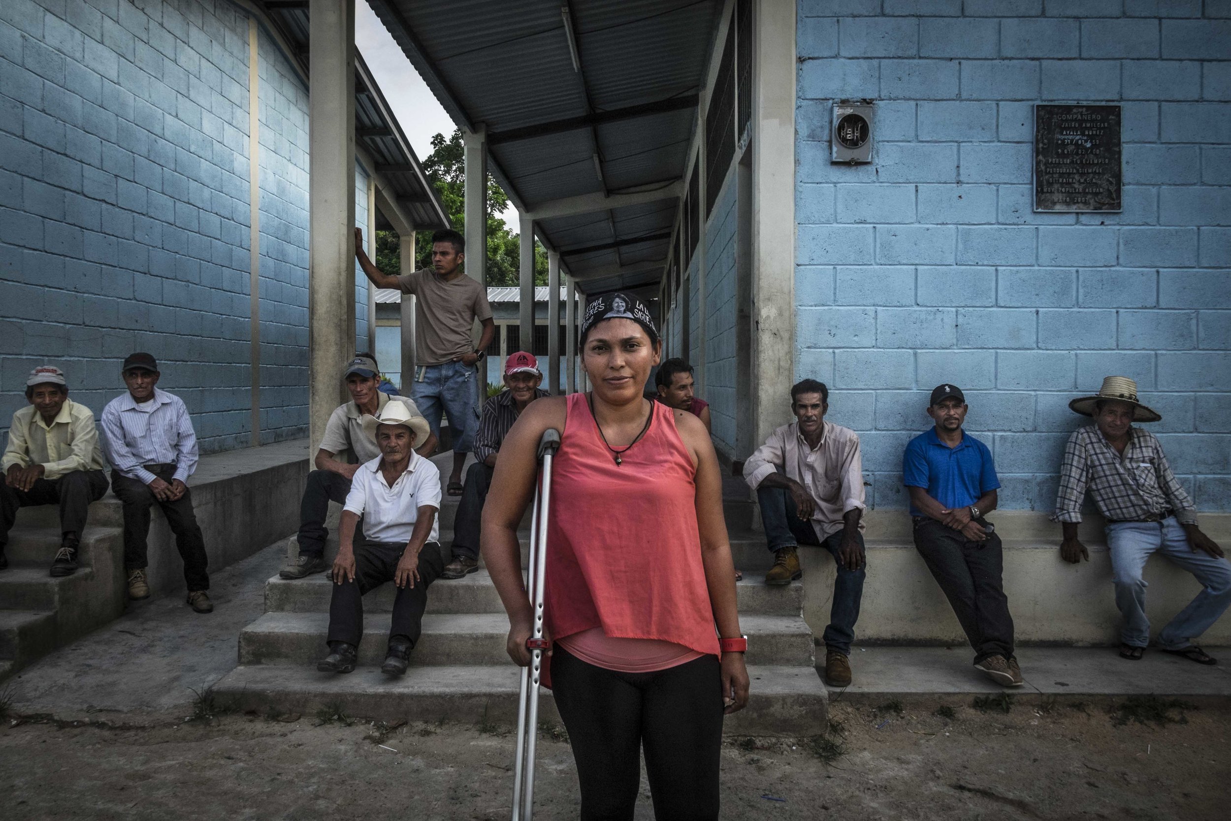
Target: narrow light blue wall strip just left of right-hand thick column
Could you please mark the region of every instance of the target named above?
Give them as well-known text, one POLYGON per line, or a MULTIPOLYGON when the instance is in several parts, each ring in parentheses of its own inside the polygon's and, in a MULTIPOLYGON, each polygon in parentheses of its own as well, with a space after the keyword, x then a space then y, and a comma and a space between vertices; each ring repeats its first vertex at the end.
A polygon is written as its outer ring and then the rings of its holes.
MULTIPOLYGON (((715 444, 735 453, 735 235, 732 165, 705 229, 705 393, 715 444)), ((694 361, 696 363, 696 361, 694 361)))

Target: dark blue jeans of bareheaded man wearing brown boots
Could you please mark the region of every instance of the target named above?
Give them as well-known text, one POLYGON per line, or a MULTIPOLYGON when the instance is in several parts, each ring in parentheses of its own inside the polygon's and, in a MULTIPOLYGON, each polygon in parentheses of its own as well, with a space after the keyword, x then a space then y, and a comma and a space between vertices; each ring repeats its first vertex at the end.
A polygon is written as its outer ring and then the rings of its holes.
MULTIPOLYGON (((828 650, 851 655, 851 643, 854 641, 854 623, 859 619, 859 602, 863 598, 864 567, 847 570, 838 559, 842 545, 842 531, 830 535, 822 543, 816 538, 812 523, 799 518, 795 500, 783 487, 757 489, 757 501, 761 505, 761 522, 766 528, 766 540, 769 550, 806 544, 825 548, 833 555, 838 566, 838 577, 833 582, 833 604, 830 607, 830 625, 821 636, 828 650)), ((859 548, 863 548, 863 534, 856 533, 859 548)))

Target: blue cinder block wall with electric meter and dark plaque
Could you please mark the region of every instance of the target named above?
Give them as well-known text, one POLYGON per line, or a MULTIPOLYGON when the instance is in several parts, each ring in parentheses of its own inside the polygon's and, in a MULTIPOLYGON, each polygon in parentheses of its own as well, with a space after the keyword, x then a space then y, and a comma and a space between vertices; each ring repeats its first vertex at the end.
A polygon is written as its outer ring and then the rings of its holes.
POLYGON ((904 506, 902 448, 953 382, 1001 506, 1050 510, 1067 401, 1123 374, 1199 507, 1231 510, 1231 6, 798 11, 796 374, 859 431, 872 501, 904 506), (848 97, 876 101, 870 165, 830 164, 848 97), (1123 213, 1033 213, 1037 102, 1123 106, 1123 213))

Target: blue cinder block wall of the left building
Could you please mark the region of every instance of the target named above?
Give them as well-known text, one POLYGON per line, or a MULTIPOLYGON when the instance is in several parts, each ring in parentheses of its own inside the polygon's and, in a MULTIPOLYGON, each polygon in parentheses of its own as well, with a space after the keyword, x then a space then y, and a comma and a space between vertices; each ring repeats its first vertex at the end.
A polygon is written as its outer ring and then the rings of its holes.
MULTIPOLYGON (((202 449, 250 444, 247 25, 227 0, 0 1, 0 431, 36 364, 100 412, 145 350, 202 449)), ((259 59, 268 443, 308 423, 308 90, 263 32, 259 59)))

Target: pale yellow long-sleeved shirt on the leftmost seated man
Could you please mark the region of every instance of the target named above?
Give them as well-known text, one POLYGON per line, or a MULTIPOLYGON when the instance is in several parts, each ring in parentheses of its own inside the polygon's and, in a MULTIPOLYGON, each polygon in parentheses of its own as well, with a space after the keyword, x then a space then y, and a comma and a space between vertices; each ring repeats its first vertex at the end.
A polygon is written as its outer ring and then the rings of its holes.
POLYGON ((32 464, 43 465, 43 479, 59 479, 74 470, 102 470, 102 449, 90 409, 65 399, 50 425, 33 405, 14 414, 0 471, 32 464))

